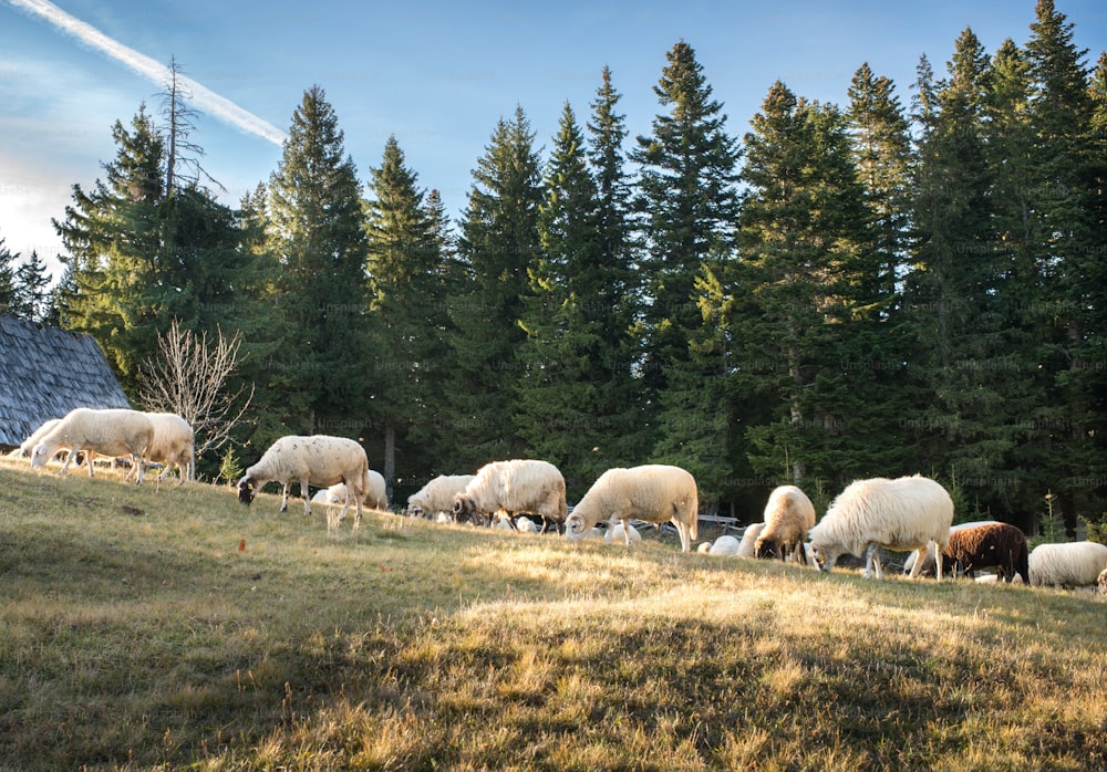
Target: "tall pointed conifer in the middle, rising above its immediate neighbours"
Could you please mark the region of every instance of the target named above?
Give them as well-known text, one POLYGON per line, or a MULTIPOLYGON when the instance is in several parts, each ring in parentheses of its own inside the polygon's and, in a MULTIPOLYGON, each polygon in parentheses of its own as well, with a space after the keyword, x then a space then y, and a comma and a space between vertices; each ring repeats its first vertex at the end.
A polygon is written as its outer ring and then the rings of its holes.
MULTIPOLYGON (((649 298, 640 366, 646 404, 654 406, 643 424, 655 427, 659 457, 672 462, 683 457, 684 466, 702 476, 715 466, 716 453, 695 458, 692 444, 713 448, 725 438, 714 421, 704 424, 696 396, 717 387, 707 384, 717 376, 714 367, 692 354, 705 325, 697 282, 720 277, 733 257, 739 153, 692 46, 677 43, 668 62, 654 93, 669 112, 653 119, 650 136, 638 137, 631 155, 641 167, 635 208, 642 217, 640 270, 649 298)), ((704 490, 708 502, 710 488, 704 490)))

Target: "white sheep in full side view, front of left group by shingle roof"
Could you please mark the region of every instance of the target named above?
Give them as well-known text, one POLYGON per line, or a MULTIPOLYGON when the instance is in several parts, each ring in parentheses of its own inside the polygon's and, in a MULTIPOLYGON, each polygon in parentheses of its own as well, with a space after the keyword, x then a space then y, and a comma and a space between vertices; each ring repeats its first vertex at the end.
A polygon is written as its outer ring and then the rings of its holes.
POLYGON ((92 453, 105 456, 130 456, 137 469, 135 484, 143 479, 143 458, 154 441, 154 424, 138 410, 112 408, 95 410, 79 407, 65 414, 54 427, 39 439, 31 451, 31 466, 41 467, 54 457, 62 447, 70 449, 62 465, 65 474, 77 451, 89 453, 89 477, 92 477, 92 453))

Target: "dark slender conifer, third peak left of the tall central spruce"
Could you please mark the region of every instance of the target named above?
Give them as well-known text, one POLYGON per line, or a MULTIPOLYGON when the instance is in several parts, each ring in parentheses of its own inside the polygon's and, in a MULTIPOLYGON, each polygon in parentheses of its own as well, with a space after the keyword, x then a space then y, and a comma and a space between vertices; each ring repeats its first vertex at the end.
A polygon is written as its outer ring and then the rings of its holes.
POLYGON ((456 378, 443 428, 453 457, 476 468, 521 451, 514 411, 526 333, 517 324, 529 292, 528 270, 540 251, 541 164, 521 107, 500 119, 473 171, 458 258, 467 274, 451 301, 456 378), (505 409, 505 406, 509 406, 505 409))

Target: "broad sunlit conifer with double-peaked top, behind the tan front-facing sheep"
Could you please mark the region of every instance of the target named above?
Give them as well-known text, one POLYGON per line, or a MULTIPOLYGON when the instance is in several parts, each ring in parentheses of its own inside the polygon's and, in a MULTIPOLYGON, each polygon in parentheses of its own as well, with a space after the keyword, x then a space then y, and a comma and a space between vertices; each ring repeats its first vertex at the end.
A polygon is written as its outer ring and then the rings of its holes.
POLYGON ((871 415, 872 374, 898 366, 858 334, 879 307, 883 259, 867 249, 845 116, 777 82, 751 126, 735 382, 765 403, 764 422, 747 429, 754 470, 804 484, 867 462, 849 442, 871 415))

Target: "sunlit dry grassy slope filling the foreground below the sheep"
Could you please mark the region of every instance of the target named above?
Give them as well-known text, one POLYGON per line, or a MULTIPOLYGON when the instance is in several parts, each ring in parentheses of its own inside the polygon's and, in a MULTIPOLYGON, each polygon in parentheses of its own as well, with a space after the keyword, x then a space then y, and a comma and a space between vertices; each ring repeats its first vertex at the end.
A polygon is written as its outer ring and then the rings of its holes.
POLYGON ((1088 594, 278 503, 0 462, 0 768, 1107 766, 1088 594))

